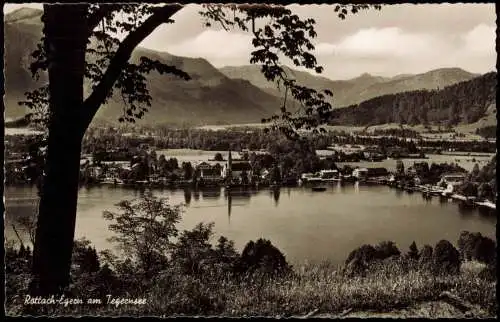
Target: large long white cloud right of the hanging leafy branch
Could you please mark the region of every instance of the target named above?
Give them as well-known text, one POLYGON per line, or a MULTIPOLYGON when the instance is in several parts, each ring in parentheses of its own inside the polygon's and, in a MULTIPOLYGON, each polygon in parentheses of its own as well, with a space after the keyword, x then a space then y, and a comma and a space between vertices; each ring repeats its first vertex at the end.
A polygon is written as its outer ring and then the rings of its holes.
POLYGON ((324 76, 356 77, 364 72, 381 76, 422 73, 460 67, 485 73, 494 69, 496 31, 480 23, 457 34, 409 32, 403 28, 365 28, 336 42, 316 44, 315 54, 324 76))

